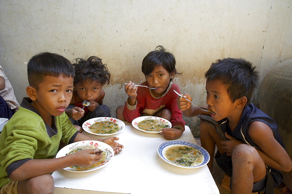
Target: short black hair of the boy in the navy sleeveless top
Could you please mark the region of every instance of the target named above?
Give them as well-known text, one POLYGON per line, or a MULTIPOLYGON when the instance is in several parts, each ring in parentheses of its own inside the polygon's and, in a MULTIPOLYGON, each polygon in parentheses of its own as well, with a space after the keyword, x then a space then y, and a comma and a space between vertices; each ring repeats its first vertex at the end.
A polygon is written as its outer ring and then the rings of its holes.
POLYGON ((212 63, 205 73, 207 81, 220 80, 227 85, 230 99, 235 102, 238 98, 245 96, 248 105, 253 91, 258 84, 258 71, 252 64, 244 59, 227 58, 212 63))

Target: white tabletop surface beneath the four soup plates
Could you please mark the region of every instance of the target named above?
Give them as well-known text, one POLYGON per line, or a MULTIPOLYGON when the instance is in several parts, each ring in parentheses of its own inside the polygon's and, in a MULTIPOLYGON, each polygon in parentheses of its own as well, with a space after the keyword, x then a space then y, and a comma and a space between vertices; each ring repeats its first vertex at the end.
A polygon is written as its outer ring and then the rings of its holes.
MULTIPOLYGON (((52 174, 55 187, 113 193, 219 193, 207 165, 194 169, 180 168, 163 161, 157 148, 166 142, 161 134, 149 134, 126 122, 126 128, 113 136, 124 145, 108 165, 91 172, 58 170, 52 174)), ((91 137, 104 139, 109 136, 91 137)), ((196 143, 190 128, 178 140, 196 143)))

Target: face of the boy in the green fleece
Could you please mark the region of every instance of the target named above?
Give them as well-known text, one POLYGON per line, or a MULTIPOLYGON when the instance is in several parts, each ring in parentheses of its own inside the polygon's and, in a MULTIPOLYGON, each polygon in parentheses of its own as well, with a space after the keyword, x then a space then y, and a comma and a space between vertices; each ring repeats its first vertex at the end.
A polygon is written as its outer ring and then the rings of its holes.
POLYGON ((38 89, 33 87, 31 89, 34 92, 33 96, 29 95, 33 100, 32 105, 45 120, 52 115, 59 116, 65 111, 72 98, 73 78, 47 75, 38 89))

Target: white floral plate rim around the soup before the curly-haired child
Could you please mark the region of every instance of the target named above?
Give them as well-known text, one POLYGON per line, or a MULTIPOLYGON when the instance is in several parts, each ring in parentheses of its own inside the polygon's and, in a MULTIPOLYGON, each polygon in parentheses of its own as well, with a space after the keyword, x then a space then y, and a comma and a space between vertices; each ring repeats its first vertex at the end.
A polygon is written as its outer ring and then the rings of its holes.
POLYGON ((88 132, 91 133, 93 135, 99 135, 99 136, 109 136, 109 135, 114 135, 117 133, 120 133, 122 130, 124 130, 125 128, 125 123, 119 119, 115 119, 112 117, 97 117, 97 118, 93 118, 93 119, 89 119, 87 121, 85 121, 82 124, 82 128, 88 132), (93 133, 89 130, 88 127, 90 127, 92 124, 94 124, 96 121, 113 121, 114 123, 117 123, 120 126, 120 129, 116 132, 116 133, 109 133, 109 134, 98 134, 98 133, 93 133))

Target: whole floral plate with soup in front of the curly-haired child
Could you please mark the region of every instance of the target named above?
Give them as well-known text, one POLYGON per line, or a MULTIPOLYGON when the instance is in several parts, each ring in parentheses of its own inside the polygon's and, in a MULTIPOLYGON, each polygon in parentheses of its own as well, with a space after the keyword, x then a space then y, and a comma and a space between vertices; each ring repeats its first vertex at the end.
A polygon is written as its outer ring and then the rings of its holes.
POLYGON ((112 117, 97 117, 85 121, 82 124, 82 128, 94 135, 108 136, 124 130, 125 123, 112 117))

